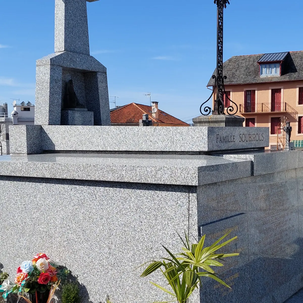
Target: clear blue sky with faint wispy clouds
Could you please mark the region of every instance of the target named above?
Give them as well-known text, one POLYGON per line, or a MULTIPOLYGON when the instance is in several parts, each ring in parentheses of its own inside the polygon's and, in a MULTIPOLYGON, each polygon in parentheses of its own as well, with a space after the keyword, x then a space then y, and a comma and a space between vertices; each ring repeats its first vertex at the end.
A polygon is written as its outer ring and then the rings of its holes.
MULTIPOLYGON (((35 60, 54 51, 54 0, 2 1, 0 101, 35 100, 35 60)), ((231 0, 225 9, 224 60, 303 49, 298 2, 231 0)), ((216 64, 212 0, 88 2, 91 55, 108 70, 117 105, 149 104, 188 120, 210 95, 216 64)), ((113 98, 110 98, 112 101, 113 98)), ((113 107, 113 104, 110 104, 113 107)))

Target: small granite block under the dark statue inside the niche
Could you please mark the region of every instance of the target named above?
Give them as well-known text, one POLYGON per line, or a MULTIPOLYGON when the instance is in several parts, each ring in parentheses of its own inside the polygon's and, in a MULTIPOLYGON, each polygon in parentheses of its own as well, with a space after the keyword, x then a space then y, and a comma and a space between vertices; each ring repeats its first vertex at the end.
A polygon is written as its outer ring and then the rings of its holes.
POLYGON ((61 125, 94 125, 94 113, 83 110, 61 111, 61 125))

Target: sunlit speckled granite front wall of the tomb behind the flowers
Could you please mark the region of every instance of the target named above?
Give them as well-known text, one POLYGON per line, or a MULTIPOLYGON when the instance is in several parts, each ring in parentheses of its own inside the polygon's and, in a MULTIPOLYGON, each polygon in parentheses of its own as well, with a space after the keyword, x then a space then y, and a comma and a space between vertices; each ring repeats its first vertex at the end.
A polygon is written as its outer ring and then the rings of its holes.
POLYGON ((115 303, 164 300, 136 268, 166 256, 161 244, 178 251, 177 231, 198 237, 191 186, 0 176, 0 188, 3 270, 14 276, 22 261, 45 252, 79 277, 82 302, 88 294, 94 303, 106 295, 115 303))

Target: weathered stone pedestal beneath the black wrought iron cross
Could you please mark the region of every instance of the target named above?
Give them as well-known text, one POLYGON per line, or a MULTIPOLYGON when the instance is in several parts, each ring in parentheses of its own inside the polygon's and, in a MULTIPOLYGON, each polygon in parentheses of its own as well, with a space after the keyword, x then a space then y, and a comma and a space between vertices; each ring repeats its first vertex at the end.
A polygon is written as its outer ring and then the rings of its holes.
POLYGON ((235 115, 212 115, 212 116, 199 116, 193 118, 195 126, 243 126, 245 118, 235 116, 235 115))

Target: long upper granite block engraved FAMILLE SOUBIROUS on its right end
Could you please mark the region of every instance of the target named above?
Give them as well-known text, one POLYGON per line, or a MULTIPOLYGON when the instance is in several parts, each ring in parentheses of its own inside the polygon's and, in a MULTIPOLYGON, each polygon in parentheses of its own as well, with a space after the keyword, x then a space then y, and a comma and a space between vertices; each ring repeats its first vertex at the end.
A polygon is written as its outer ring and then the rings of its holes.
POLYGON ((60 151, 203 152, 264 148, 269 142, 268 128, 42 125, 42 129, 43 150, 60 151), (249 141, 257 134, 261 141, 249 141))

